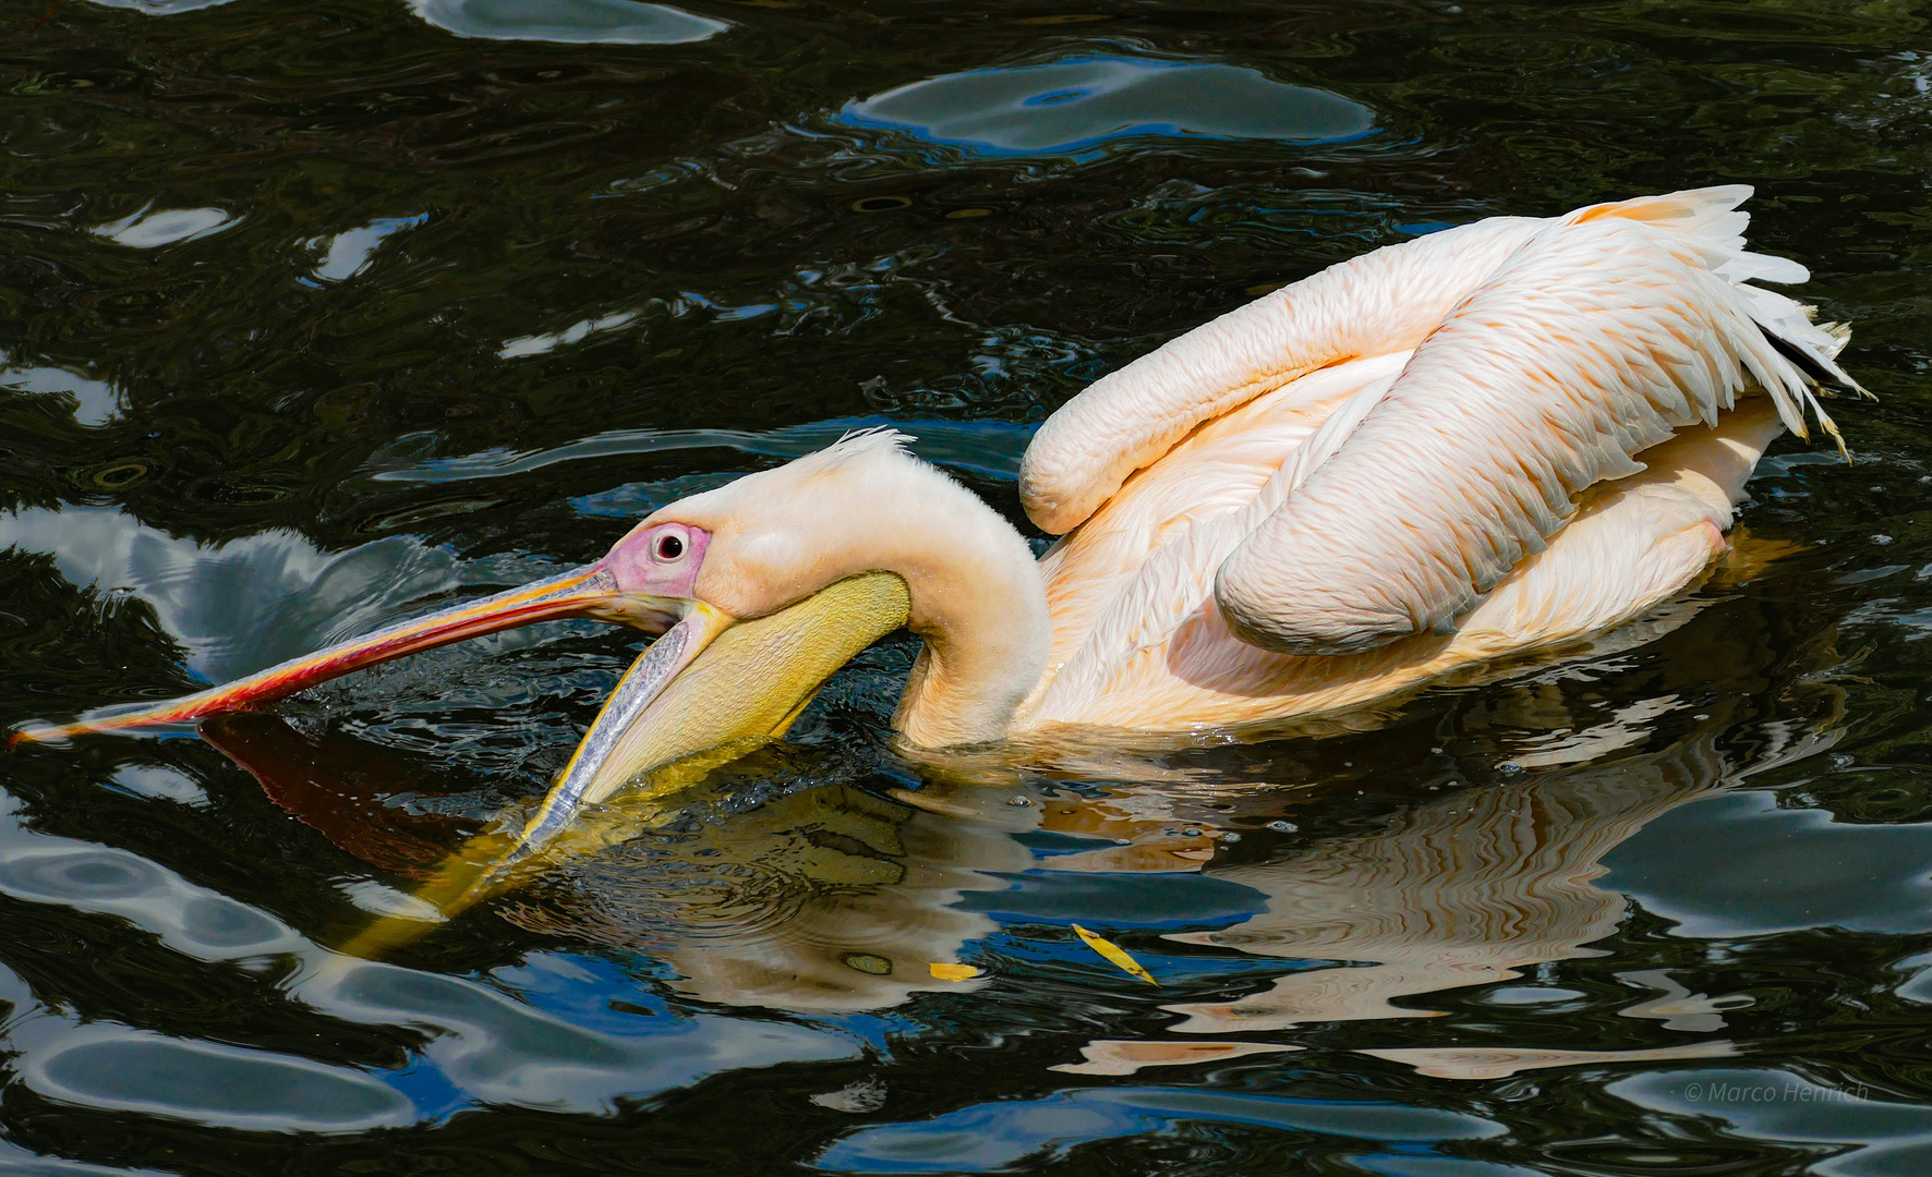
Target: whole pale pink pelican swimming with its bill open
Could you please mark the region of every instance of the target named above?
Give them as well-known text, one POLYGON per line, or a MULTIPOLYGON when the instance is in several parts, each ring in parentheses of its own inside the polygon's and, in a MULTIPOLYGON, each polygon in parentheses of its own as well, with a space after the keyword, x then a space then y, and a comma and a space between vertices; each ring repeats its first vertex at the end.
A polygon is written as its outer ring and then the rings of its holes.
MULTIPOLYGON (((782 734, 908 628, 893 725, 945 750, 1055 732, 1206 736, 1561 647, 1692 588, 1849 330, 1754 286, 1748 187, 1497 216, 1354 257, 1094 383, 1026 450, 1036 560, 889 429, 672 502, 595 564, 172 703, 17 740, 261 705, 554 617, 657 642, 522 835, 670 763, 782 734)), ((694 760, 696 758, 696 760, 694 760)))

